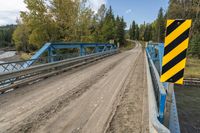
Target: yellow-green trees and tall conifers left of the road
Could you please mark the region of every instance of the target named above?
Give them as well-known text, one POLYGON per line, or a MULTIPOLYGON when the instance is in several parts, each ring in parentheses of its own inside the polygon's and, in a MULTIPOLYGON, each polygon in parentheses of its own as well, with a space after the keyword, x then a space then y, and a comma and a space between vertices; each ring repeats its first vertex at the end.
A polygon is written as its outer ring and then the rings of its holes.
POLYGON ((45 42, 99 42, 125 44, 123 17, 102 5, 97 13, 87 0, 25 0, 13 33, 17 50, 31 52, 45 42))

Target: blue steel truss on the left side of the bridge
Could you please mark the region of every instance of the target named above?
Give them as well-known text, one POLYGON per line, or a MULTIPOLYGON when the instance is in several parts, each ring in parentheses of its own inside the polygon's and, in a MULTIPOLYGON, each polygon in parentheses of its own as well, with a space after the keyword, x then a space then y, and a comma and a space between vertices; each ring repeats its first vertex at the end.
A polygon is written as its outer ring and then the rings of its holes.
POLYGON ((26 61, 15 61, 0 64, 0 73, 15 71, 27 68, 38 62, 54 62, 62 59, 85 56, 92 53, 105 52, 117 49, 115 44, 109 43, 77 43, 77 42, 51 42, 45 43, 32 57, 26 61), (87 51, 90 48, 90 52, 87 51), (77 49, 78 53, 67 53, 65 55, 56 55, 53 51, 59 49, 77 49), (92 51, 91 51, 92 50, 92 51), (45 52, 48 53, 47 57, 41 57, 45 52))

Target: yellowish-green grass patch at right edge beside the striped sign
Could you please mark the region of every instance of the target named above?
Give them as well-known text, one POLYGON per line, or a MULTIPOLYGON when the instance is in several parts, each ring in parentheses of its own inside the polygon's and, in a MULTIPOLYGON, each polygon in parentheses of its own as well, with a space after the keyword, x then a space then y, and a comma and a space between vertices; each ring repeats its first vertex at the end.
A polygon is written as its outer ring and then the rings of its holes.
POLYGON ((184 73, 185 78, 200 78, 200 59, 188 58, 184 73))

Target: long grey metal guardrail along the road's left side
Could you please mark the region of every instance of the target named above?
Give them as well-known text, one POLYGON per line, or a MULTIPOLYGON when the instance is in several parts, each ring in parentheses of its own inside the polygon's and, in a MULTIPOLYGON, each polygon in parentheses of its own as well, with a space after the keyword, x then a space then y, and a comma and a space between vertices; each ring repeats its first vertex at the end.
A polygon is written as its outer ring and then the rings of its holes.
POLYGON ((20 85, 24 85, 90 62, 94 62, 104 57, 116 54, 117 52, 117 49, 110 50, 2 73, 0 74, 0 93, 4 93, 10 89, 15 89, 20 85))

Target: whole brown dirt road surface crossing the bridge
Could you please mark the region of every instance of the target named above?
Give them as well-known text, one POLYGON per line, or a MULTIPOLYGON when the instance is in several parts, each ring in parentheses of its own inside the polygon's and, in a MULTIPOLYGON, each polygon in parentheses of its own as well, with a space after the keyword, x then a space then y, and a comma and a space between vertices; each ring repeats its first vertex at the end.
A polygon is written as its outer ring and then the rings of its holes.
MULTIPOLYGON (((133 50, 108 57, 93 65, 0 95, 0 132, 118 131, 117 128, 124 128, 124 125, 118 127, 114 123, 119 124, 115 118, 120 119, 118 113, 124 110, 119 107, 123 108, 124 101, 133 100, 134 107, 130 105, 131 108, 140 112, 145 110, 143 69, 143 53, 137 44, 133 50), (136 79, 133 80, 134 78, 136 79), (124 98, 131 88, 131 95, 124 98), (129 99, 131 96, 135 98, 129 99)), ((131 115, 130 119, 134 118, 140 124, 132 130, 141 132, 142 128, 139 127, 145 125, 144 120, 148 116, 137 111, 132 112, 136 114, 131 115)), ((134 123, 134 120, 129 122, 129 126, 131 122, 134 123)))

